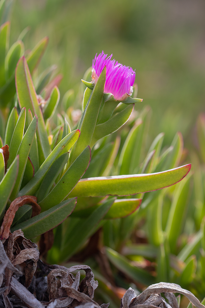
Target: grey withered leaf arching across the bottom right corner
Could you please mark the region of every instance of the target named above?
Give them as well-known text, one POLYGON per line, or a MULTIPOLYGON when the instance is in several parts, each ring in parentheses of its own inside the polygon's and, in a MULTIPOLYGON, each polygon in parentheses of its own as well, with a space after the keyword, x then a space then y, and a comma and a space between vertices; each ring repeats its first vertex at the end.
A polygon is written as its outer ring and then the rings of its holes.
MULTIPOLYGON (((146 298, 151 294, 158 294, 158 293, 180 293, 185 295, 190 302, 196 306, 197 308, 205 308, 199 300, 192 294, 190 291, 182 289, 179 285, 175 283, 168 283, 168 282, 160 282, 154 285, 149 286, 146 290, 144 290, 135 300, 134 305, 143 304, 146 298)), ((133 306, 134 307, 134 306, 133 306)))

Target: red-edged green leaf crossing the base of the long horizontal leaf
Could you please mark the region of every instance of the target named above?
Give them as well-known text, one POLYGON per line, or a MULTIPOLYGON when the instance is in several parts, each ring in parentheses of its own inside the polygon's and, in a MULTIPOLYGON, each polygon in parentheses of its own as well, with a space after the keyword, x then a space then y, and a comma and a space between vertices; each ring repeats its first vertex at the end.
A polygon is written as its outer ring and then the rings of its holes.
POLYGON ((60 203, 71 192, 73 187, 81 179, 85 171, 87 170, 91 158, 90 147, 87 146, 85 150, 74 160, 65 174, 61 177, 56 186, 46 196, 39 205, 41 210, 45 211, 52 206, 60 203))

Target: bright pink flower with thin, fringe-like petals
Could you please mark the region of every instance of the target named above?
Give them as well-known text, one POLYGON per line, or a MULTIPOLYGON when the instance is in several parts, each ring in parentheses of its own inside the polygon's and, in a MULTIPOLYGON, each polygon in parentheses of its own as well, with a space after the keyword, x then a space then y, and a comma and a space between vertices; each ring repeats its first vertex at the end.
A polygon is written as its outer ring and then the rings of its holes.
POLYGON ((106 81, 104 93, 112 93, 114 99, 123 101, 133 92, 135 81, 135 71, 132 67, 122 65, 117 61, 111 60, 112 55, 107 57, 102 51, 101 54, 95 55, 93 59, 92 81, 96 83, 101 71, 106 65, 106 81))

